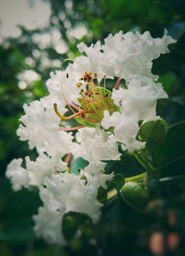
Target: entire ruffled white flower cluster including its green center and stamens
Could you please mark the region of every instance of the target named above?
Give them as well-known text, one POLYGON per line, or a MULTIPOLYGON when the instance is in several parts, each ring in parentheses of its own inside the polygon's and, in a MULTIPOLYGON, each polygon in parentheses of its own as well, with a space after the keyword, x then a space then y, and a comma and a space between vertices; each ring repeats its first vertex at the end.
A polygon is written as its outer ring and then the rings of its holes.
POLYGON ((117 142, 130 152, 145 145, 137 140, 138 122, 157 120, 156 101, 168 98, 162 84, 155 82, 158 76, 151 73, 152 61, 169 52, 171 43, 175 40, 166 30, 156 39, 149 32, 120 31, 109 35, 104 45, 80 43, 77 47, 86 56, 71 60, 64 71, 51 73, 46 82, 49 96, 24 105, 26 114, 17 135, 28 140, 30 149, 36 147, 39 156, 35 162, 26 157, 26 169, 23 159, 12 160, 6 176, 15 191, 38 187, 43 207, 33 217, 37 236, 64 245, 66 213, 85 213, 93 223, 100 219, 98 188, 107 189, 106 181, 114 177, 114 173, 105 174, 102 161, 120 160, 117 142), (113 90, 106 89, 106 79, 116 77, 113 90), (118 89, 123 79, 125 86, 118 89), (68 127, 67 120, 72 118, 79 125, 68 127), (78 130, 75 136, 74 130, 78 130), (74 160, 83 157, 89 162, 79 175, 68 168, 71 154, 74 160))

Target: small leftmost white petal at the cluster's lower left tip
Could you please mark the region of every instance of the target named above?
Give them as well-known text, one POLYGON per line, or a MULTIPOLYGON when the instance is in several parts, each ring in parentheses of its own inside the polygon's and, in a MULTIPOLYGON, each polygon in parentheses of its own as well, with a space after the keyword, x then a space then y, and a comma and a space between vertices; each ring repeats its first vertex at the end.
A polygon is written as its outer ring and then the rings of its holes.
POLYGON ((21 167, 23 159, 14 159, 9 163, 6 170, 6 177, 10 178, 12 183, 12 189, 18 191, 22 189, 28 183, 28 174, 26 170, 21 167))

